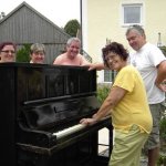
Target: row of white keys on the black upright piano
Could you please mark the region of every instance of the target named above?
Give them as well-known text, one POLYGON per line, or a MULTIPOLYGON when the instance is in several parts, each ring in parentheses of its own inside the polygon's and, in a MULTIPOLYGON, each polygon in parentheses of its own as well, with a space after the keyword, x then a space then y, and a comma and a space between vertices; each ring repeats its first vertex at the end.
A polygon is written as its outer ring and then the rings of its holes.
POLYGON ((83 125, 83 124, 77 124, 77 125, 74 125, 72 127, 68 127, 68 128, 64 128, 63 131, 59 131, 56 133, 53 133, 53 135, 56 136, 56 138, 61 138, 63 136, 66 136, 66 135, 70 135, 72 133, 75 133, 77 131, 81 131, 83 128, 85 128, 86 125, 83 125))

